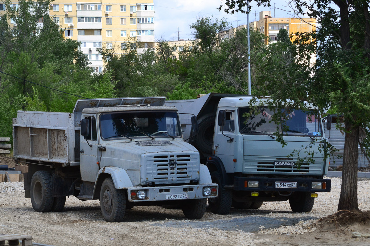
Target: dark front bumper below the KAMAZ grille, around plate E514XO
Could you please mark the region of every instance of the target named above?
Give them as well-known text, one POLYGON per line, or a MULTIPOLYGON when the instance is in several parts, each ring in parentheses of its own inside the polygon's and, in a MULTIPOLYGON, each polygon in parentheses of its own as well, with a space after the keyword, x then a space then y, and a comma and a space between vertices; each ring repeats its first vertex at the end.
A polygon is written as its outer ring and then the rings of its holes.
POLYGON ((234 190, 235 191, 298 191, 298 192, 330 192, 332 188, 332 181, 330 179, 280 179, 280 178, 245 178, 235 177, 234 178, 234 190), (248 181, 258 181, 258 187, 245 187, 245 183, 248 181), (297 188, 276 188, 275 182, 297 182, 297 188), (313 189, 312 182, 325 182, 325 189, 313 189))

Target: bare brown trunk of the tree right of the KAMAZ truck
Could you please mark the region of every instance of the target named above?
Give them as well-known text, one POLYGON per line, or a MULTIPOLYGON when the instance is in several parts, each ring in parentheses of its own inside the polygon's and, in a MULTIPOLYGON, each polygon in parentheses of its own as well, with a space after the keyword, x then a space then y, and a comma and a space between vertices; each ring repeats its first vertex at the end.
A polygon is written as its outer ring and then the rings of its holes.
POLYGON ((346 139, 344 140, 342 188, 338 211, 342 209, 359 210, 357 203, 357 158, 359 145, 359 127, 345 123, 346 139))

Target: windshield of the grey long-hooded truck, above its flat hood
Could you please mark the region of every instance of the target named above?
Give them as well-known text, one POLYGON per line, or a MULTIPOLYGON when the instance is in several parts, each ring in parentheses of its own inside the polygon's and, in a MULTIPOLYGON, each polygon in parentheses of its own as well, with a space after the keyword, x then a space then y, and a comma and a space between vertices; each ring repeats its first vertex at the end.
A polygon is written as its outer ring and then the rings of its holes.
POLYGON ((176 112, 114 112, 100 116, 103 139, 122 137, 174 137, 181 136, 176 112), (167 133, 167 134, 166 134, 167 133))

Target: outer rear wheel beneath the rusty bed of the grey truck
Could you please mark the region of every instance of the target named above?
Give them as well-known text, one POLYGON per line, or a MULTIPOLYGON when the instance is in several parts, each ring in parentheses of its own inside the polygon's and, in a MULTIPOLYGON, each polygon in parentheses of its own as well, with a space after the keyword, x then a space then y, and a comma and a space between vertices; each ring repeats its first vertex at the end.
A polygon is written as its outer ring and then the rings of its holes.
POLYGON ((48 171, 36 171, 31 179, 31 203, 36 212, 50 212, 53 207, 51 174, 48 171))

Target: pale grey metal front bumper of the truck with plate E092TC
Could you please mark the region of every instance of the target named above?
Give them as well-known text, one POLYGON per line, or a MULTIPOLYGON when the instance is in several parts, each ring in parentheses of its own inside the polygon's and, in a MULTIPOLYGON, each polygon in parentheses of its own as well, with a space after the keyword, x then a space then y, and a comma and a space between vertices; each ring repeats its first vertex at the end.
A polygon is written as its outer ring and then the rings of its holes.
POLYGON ((189 200, 202 198, 215 198, 218 193, 218 184, 205 183, 200 185, 179 185, 179 186, 158 186, 158 187, 130 187, 127 189, 127 197, 129 202, 149 202, 149 201, 165 201, 167 195, 187 194, 187 199, 171 199, 171 200, 189 200), (209 196, 203 195, 203 188, 216 188, 209 196), (138 199, 132 196, 131 193, 145 191, 145 198, 138 199))

